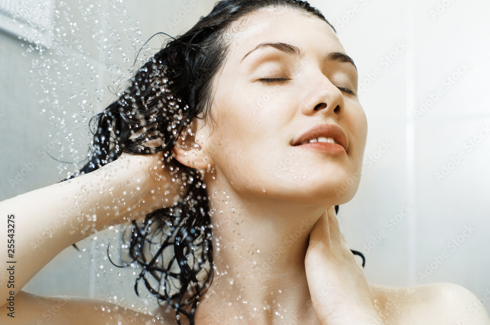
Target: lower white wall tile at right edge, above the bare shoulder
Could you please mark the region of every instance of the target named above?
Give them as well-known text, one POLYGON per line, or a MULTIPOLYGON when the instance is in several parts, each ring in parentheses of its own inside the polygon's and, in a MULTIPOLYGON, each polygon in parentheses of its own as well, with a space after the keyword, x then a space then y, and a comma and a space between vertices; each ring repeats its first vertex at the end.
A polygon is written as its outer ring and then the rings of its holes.
POLYGON ((487 126, 490 119, 417 125, 417 274, 430 273, 425 264, 447 253, 441 265, 433 264, 430 277, 417 276, 423 283, 444 279, 476 290, 490 271, 483 250, 490 227, 490 134, 482 129, 487 126), (486 137, 473 146, 470 140, 479 141, 480 132, 486 137))

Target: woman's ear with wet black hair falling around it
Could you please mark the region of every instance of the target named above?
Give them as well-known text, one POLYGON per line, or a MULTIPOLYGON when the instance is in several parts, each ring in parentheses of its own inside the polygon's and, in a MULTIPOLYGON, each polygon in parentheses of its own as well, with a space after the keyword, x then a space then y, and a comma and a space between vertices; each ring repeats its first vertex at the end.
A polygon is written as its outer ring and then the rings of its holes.
POLYGON ((205 139, 206 126, 196 118, 182 131, 172 148, 173 157, 183 165, 195 169, 214 167, 214 160, 209 154, 205 139))

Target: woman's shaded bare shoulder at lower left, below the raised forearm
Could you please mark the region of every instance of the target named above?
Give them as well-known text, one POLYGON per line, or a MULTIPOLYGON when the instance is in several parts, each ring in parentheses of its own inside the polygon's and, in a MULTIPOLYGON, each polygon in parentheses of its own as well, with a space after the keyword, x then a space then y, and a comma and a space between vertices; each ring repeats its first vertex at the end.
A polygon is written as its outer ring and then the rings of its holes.
POLYGON ((0 324, 174 324, 159 316, 139 313, 108 302, 76 297, 40 297, 22 291, 15 296, 15 311, 11 316, 8 316, 5 312, 0 313, 0 324))

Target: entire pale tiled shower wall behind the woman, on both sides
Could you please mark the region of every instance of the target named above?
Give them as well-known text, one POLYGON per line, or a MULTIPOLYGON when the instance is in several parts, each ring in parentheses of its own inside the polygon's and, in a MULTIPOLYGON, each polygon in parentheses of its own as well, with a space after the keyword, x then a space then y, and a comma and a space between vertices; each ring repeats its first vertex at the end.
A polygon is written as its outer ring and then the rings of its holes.
MULTIPOLYGON (((0 199, 80 167, 88 121, 121 91, 138 50, 157 32, 186 30, 215 1, 17 2, 0 3, 0 26, 10 31, 0 33, 0 199)), ((351 248, 367 258, 368 280, 458 283, 490 310, 490 2, 311 4, 336 27, 359 70, 368 144, 358 194, 339 218, 351 248)), ((143 46, 135 67, 164 41, 143 46)), ((87 238, 79 252, 66 249, 25 290, 144 308, 151 297, 134 295, 134 271, 107 259, 116 231, 87 238)))

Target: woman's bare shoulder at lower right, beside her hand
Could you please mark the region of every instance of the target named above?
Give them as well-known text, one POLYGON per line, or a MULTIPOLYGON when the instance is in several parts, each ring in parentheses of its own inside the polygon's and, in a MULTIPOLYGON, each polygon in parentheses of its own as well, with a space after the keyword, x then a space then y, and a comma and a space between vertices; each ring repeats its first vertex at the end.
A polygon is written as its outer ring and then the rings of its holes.
POLYGON ((386 324, 490 325, 484 304, 457 284, 433 283, 400 288, 370 286, 386 324))

